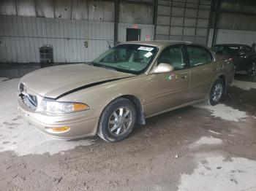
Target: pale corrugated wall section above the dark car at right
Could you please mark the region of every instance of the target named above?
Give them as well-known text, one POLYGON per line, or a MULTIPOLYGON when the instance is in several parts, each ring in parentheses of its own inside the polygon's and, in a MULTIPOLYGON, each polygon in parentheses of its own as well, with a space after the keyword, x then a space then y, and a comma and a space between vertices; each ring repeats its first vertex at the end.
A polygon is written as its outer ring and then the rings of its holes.
MULTIPOLYGON (((208 47, 211 47, 211 41, 213 37, 214 29, 211 28, 208 38, 208 47)), ((247 44, 252 45, 256 42, 256 31, 237 31, 237 30, 226 30, 218 29, 216 44, 247 44)))

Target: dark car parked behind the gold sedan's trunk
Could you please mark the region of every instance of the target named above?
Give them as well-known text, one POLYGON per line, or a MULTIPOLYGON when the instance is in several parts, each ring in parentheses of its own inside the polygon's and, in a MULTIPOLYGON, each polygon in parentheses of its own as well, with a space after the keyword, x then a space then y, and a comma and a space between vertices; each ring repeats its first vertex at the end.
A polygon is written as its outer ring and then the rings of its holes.
POLYGON ((249 76, 255 75, 256 52, 245 44, 217 44, 211 47, 217 55, 234 61, 235 72, 246 71, 249 76))

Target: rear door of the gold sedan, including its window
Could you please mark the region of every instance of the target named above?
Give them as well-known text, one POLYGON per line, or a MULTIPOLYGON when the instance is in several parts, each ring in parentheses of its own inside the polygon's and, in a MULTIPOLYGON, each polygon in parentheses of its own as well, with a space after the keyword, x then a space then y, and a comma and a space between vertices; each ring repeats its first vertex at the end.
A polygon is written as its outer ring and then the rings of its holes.
POLYGON ((186 47, 190 69, 188 99, 196 101, 208 95, 217 75, 217 63, 213 63, 214 57, 205 47, 199 45, 187 45, 186 47))

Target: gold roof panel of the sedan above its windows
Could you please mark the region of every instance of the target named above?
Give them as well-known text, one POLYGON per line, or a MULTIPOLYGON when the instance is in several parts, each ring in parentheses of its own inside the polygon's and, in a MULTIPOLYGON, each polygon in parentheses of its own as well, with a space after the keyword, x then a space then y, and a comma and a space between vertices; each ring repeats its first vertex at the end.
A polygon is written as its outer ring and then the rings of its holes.
POLYGON ((173 41, 173 40, 129 41, 121 44, 142 44, 142 45, 148 45, 148 46, 154 46, 154 47, 167 47, 174 44, 195 44, 195 45, 200 45, 202 47, 206 47, 204 44, 200 44, 200 43, 173 41))

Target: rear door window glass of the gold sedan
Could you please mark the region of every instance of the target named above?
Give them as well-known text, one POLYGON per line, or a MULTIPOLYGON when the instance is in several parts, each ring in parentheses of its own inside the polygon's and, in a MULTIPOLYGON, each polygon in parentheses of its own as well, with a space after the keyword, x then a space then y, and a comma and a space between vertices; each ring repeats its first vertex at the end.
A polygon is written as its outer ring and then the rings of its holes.
POLYGON ((189 54, 190 67, 200 66, 213 60, 211 53, 204 47, 187 46, 187 52, 189 54))

